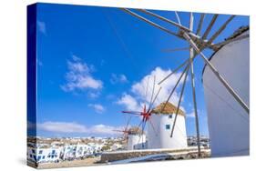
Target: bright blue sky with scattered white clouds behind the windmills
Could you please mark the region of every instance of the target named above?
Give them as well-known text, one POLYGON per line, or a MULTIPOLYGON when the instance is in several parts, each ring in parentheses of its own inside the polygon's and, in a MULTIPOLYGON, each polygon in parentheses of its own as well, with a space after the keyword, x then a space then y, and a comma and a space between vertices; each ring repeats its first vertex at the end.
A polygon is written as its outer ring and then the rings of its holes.
MULTIPOLYGON (((155 13, 176 21, 171 11, 155 13)), ((200 15, 194 15, 195 30, 200 15)), ((179 16, 182 25, 188 26, 189 13, 180 12, 179 16)), ((136 110, 148 100, 144 96, 145 80, 149 77, 150 86, 153 75, 157 80, 162 79, 189 56, 188 51, 163 52, 164 49, 188 46, 188 43, 118 8, 39 4, 36 17, 37 136, 113 136, 112 130, 125 126, 128 120, 128 116, 120 111, 136 110)), ((211 17, 206 16, 202 32, 211 17)), ((212 30, 216 31, 228 17, 220 15, 212 30)), ((148 18, 176 30, 150 16, 148 18)), ((241 25, 249 25, 248 16, 235 17, 215 42, 220 42, 241 25)), ((204 53, 210 56, 212 52, 206 50, 204 53)), ((208 136, 202 68, 203 62, 197 57, 195 74, 200 133, 208 136)), ((166 99, 179 74, 164 85, 166 95, 159 96, 158 103, 166 99)), ((173 103, 177 102, 179 91, 180 86, 171 100, 173 103)), ((188 114, 188 135, 195 134, 191 104, 188 81, 181 104, 188 114)), ((139 117, 133 117, 131 125, 138 123, 139 117)))

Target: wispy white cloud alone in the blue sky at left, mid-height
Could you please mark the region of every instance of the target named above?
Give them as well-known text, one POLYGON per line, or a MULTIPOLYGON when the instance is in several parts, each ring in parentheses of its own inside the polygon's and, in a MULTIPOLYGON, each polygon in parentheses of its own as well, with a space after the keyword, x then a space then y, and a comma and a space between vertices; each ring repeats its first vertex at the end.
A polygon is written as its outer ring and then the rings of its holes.
POLYGON ((95 79, 91 72, 94 70, 93 66, 88 66, 83 63, 80 58, 73 55, 72 61, 67 61, 68 72, 66 74, 65 85, 61 85, 64 91, 71 92, 76 90, 99 90, 103 87, 101 80, 95 79))

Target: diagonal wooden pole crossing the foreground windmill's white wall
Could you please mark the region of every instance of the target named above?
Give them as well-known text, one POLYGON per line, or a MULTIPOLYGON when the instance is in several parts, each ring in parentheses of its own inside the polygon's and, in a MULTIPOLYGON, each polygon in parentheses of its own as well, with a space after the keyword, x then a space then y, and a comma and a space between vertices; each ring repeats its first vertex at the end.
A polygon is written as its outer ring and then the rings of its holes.
POLYGON ((210 70, 213 72, 214 75, 217 76, 217 78, 220 80, 222 85, 224 85, 227 90, 230 92, 230 95, 235 98, 235 100, 246 110, 247 114, 249 115, 249 107, 243 102, 241 97, 231 88, 231 86, 228 84, 228 82, 220 75, 218 70, 211 65, 210 61, 207 59, 207 57, 200 51, 199 47, 193 42, 193 40, 189 37, 187 33, 184 33, 184 37, 189 41, 189 44, 194 48, 194 50, 202 57, 206 65, 210 67, 210 70))

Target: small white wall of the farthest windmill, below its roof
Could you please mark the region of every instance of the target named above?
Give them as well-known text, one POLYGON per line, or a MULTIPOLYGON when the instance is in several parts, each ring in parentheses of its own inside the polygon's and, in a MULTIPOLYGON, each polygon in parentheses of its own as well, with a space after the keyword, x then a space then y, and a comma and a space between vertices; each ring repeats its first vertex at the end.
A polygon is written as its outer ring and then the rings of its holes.
POLYGON ((128 135, 128 150, 146 148, 146 135, 128 135))

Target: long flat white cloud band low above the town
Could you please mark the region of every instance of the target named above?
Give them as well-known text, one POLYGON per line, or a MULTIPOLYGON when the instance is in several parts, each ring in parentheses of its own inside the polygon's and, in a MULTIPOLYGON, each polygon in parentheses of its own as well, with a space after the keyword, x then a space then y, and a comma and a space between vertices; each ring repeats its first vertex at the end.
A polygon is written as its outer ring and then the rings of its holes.
POLYGON ((104 135, 117 135, 118 132, 114 130, 122 130, 122 126, 84 126, 75 122, 44 122, 37 124, 37 128, 47 132, 53 133, 87 133, 87 134, 104 134, 104 135))

